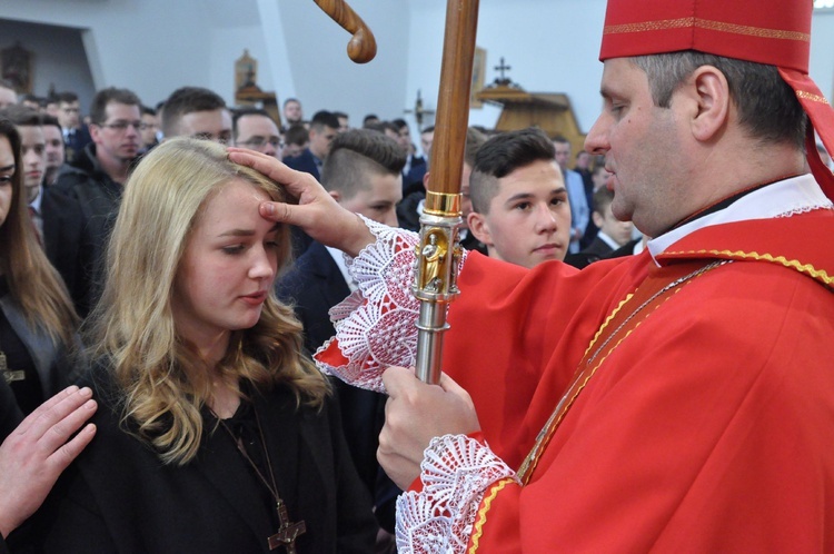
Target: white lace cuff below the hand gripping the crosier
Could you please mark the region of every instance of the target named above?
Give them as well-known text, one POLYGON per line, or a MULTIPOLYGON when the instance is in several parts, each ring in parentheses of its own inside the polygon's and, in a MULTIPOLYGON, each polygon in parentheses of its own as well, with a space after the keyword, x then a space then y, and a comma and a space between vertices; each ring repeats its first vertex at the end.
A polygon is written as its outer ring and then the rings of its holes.
POLYGON ((518 477, 485 444, 465 435, 431 441, 420 464, 421 492, 397 498, 397 552, 464 553, 484 494, 518 477))

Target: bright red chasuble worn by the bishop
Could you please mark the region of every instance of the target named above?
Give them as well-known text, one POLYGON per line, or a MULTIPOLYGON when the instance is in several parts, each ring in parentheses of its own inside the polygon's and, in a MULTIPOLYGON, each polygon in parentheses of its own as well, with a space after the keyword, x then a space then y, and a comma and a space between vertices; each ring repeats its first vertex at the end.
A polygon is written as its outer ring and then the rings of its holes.
POLYGON ((834 552, 832 237, 816 210, 697 230, 659 268, 470 255, 444 369, 508 465, 600 353, 526 485, 485 495, 469 552, 834 552), (733 261, 631 297, 716 260, 733 261))

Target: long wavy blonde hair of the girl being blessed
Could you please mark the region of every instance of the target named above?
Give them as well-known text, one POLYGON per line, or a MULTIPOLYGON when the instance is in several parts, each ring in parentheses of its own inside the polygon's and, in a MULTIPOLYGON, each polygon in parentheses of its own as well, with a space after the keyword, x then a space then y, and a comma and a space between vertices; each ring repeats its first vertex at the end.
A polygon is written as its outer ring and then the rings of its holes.
MULTIPOLYGON (((220 145, 177 138, 156 147, 126 184, 108 248, 105 290, 92 317, 93 356, 115 370, 122 392, 122 424, 168 464, 186 464, 202 435, 200 409, 210 398, 207 368, 177 335, 171 295, 196 219, 232 179, 244 179, 274 200, 285 191, 254 169, 232 164, 220 145)), ((282 226, 279 264, 289 260, 282 226)), ((255 327, 234 332, 216 368, 237 388, 248 379, 288 386, 298 405, 320 406, 327 382, 304 355, 301 325, 270 291, 255 327)))

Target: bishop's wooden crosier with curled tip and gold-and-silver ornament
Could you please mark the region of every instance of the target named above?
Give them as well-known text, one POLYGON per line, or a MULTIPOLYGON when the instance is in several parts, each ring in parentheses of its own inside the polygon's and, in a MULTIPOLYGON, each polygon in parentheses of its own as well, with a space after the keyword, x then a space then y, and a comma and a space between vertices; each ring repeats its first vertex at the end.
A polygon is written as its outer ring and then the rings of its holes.
MULTIPOLYGON (((374 58, 374 36, 345 2, 315 2, 354 33, 348 46, 350 59, 364 63, 374 58)), ((463 224, 460 178, 477 27, 478 0, 448 0, 430 177, 420 217, 417 275, 411 286, 415 297, 420 300, 416 368, 417 376, 425 383, 437 383, 440 378, 443 335, 449 328, 446 310, 459 294, 457 267, 463 255, 458 238, 463 224)))

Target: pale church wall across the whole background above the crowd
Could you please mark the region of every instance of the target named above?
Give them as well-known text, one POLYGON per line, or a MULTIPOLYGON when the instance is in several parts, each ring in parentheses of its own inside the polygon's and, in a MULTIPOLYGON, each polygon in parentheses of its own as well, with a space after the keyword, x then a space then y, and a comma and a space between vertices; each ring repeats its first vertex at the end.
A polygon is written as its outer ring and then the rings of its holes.
MULTIPOLYGON (((300 98, 307 116, 340 109, 354 125, 371 111, 384 119, 404 117, 417 90, 426 109, 436 108, 446 1, 351 6, 377 38, 377 58, 365 66, 347 58, 348 33, 311 0, 0 0, 6 20, 81 29, 87 60, 70 31, 47 33, 13 22, 0 21, 0 48, 19 38, 37 52, 38 93, 46 93, 49 82, 59 90, 76 83, 82 97, 92 88, 119 86, 156 103, 177 87, 196 85, 231 103, 232 65, 247 48, 259 61, 258 85, 279 100, 300 98)), ((604 11, 605 0, 480 0, 477 43, 487 51, 486 81, 504 57, 513 68, 509 77, 526 90, 567 93, 587 131, 600 106, 604 11)), ((811 75, 831 98, 832 12, 814 16, 811 75)), ((497 117, 496 108, 485 106, 471 110, 469 120, 492 127, 497 117)))

